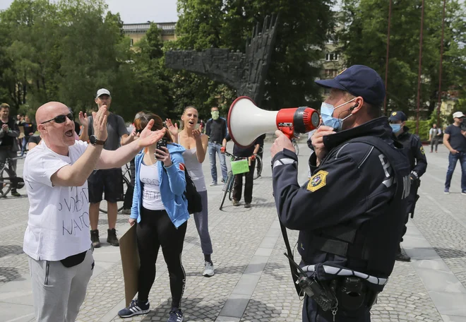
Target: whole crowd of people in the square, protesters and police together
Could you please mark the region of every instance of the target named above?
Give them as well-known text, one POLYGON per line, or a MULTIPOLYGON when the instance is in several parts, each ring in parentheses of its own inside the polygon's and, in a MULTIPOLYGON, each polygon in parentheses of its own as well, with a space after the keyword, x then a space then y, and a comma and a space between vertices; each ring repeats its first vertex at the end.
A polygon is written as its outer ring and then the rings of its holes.
MULTIPOLYGON (((414 215, 426 156, 421 140, 406 126, 403 112, 381 116, 385 89, 373 69, 351 66, 333 79, 316 83, 329 88, 330 95, 321 105, 321 125, 309 136, 309 181, 298 184, 297 155, 282 132, 277 131, 271 148, 277 213, 283 227, 300 231, 299 265, 307 272, 305 278, 318 281, 323 294, 336 303, 330 310, 322 309, 316 294, 303 289, 303 321, 370 321, 371 306, 395 261, 410 261, 400 243, 406 222, 414 215), (345 290, 357 291, 349 299, 345 290)), ((179 129, 170 119, 164 122, 157 114, 141 111, 129 131, 124 120, 111 112, 109 90, 98 90, 95 104, 97 112, 92 115, 79 113, 78 126, 70 109, 60 102, 37 109, 35 123, 29 117, 14 120, 9 106, 0 105, 0 162, 29 151, 23 172, 30 202, 23 250, 30 263, 37 321, 76 319, 95 265, 93 249, 101 246, 97 227, 102 196, 108 209, 107 243, 119 246, 117 202, 124 200, 121 166, 128 162, 133 171, 125 203, 129 225, 136 225, 141 266, 138 295, 118 314, 126 318, 150 311, 149 294, 161 248, 172 292, 168 321, 183 321, 186 273, 181 254, 191 215, 201 239, 201 274, 215 274, 202 164, 208 153, 210 186, 218 184, 217 157, 220 181, 227 178, 227 120, 213 107, 212 118, 203 124, 198 109, 188 106, 179 129), (24 133, 21 145, 20 133, 24 133), (198 213, 188 210, 186 174, 201 196, 198 213)), ((430 152, 434 148, 437 152, 439 141, 450 151, 445 193, 460 160, 461 191, 466 194, 465 115, 455 112, 453 118, 445 131, 432 126, 430 152)), ((252 207, 255 157, 263 153, 264 137, 249 148, 234 145, 235 157, 250 160, 249 172, 235 175, 234 206, 240 205, 245 177, 244 207, 252 207)), ((16 163, 11 167, 15 171, 16 163)), ((12 195, 19 193, 12 189, 12 195)), ((294 278, 304 278, 292 271, 294 278)))

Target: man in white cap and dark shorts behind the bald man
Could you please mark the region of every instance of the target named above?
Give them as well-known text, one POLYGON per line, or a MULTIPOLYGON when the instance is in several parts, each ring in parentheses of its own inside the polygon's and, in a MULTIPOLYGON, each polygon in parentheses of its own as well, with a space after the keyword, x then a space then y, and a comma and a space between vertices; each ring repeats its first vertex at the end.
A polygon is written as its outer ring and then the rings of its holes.
MULTIPOLYGON (((112 96, 109 90, 105 88, 97 90, 95 103, 98 108, 102 105, 107 105, 107 109, 109 110, 112 104, 112 96)), ((117 150, 120 145, 131 143, 134 140, 134 136, 129 135, 123 118, 117 114, 107 113, 108 137, 104 143, 104 150, 117 150)), ((92 123, 92 116, 88 117, 88 124, 83 124, 84 129, 83 135, 80 137, 81 140, 87 141, 94 134, 92 123)), ((97 224, 99 222, 99 208, 103 193, 104 199, 107 201, 107 216, 109 221, 107 243, 119 246, 115 225, 117 224, 117 201, 123 201, 123 178, 121 176, 121 168, 104 169, 94 170, 88 179, 90 240, 95 248, 100 247, 97 224)))

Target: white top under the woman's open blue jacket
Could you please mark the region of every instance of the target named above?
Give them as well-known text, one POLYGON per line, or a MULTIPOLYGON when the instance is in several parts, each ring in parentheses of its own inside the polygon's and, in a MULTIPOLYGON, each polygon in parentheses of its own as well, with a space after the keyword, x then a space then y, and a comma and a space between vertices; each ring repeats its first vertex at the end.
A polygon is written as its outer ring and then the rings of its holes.
POLYGON ((153 165, 145 165, 141 163, 141 171, 139 179, 143 189, 143 207, 149 210, 165 210, 160 196, 158 162, 153 165))

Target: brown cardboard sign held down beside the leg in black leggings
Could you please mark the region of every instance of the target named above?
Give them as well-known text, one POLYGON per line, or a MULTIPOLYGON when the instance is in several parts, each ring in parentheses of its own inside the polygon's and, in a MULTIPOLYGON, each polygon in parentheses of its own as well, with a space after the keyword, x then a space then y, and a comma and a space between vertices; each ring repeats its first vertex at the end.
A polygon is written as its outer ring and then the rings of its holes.
POLYGON ((136 225, 120 237, 121 266, 123 266, 124 297, 126 307, 138 292, 139 253, 136 241, 136 225))

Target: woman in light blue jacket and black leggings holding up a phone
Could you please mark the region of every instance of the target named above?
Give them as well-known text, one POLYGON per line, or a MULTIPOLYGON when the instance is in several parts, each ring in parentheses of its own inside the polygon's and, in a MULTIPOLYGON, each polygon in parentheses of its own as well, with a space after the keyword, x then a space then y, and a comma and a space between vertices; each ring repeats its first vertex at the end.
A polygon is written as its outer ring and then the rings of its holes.
MULTIPOLYGON (((151 119, 154 120, 152 131, 163 129, 162 119, 148 113, 134 120, 136 132, 145 129, 151 119)), ((172 142, 166 132, 162 141, 136 155, 136 186, 129 224, 137 222, 136 237, 141 267, 138 272, 138 298, 118 312, 121 318, 148 313, 149 292, 155 280, 155 262, 162 246, 172 291, 172 309, 169 311, 168 322, 183 321, 181 298, 186 274, 181 264, 181 252, 189 219, 188 202, 184 196, 184 151, 181 145, 172 142), (166 147, 160 144, 164 139, 166 147)))

